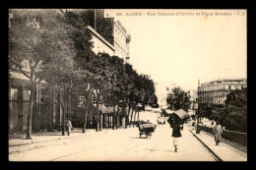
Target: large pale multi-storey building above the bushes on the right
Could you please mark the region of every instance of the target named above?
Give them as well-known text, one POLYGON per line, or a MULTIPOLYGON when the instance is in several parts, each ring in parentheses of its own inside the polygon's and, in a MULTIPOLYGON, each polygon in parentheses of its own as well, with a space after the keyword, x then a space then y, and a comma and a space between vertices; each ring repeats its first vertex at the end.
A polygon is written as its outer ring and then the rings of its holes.
POLYGON ((199 86, 200 103, 224 104, 226 95, 234 89, 247 86, 247 79, 224 79, 199 86))

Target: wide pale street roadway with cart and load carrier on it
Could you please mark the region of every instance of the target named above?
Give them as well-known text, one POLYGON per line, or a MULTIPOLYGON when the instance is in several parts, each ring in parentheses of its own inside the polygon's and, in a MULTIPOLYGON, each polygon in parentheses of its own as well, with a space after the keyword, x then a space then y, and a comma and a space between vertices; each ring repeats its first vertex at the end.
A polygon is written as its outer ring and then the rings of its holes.
MULTIPOLYGON (((184 127, 178 152, 174 152, 171 129, 159 125, 151 139, 140 139, 137 128, 108 130, 64 141, 39 143, 9 155, 13 161, 215 161, 184 127)), ((22 147, 22 146, 20 146, 22 147)))

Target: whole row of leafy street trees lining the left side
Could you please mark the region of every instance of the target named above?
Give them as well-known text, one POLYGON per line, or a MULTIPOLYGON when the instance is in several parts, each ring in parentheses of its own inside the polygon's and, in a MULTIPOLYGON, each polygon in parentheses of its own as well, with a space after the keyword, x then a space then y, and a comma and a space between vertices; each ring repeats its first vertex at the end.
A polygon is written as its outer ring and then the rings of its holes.
MULTIPOLYGON (((93 52, 87 11, 11 10, 11 13, 10 71, 23 73, 31 85, 27 139, 32 139, 35 85, 41 81, 58 89, 64 115, 62 135, 65 135, 65 115, 70 115, 67 101, 74 89, 87 98, 85 119, 90 93, 96 91, 96 131, 99 130, 99 98, 104 93, 113 95, 114 105, 120 101, 126 103, 128 113, 132 110, 132 114, 139 102, 154 104, 157 100, 154 83, 148 76, 139 75, 132 65, 117 56, 93 52), (28 62, 30 72, 24 70, 24 62, 28 62)), ((114 120, 115 112, 113 107, 114 120)), ((84 133, 86 123, 87 120, 84 133)))

